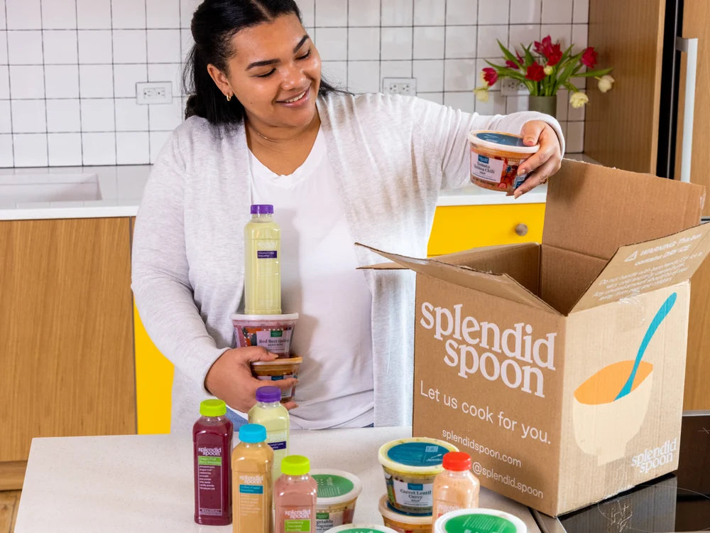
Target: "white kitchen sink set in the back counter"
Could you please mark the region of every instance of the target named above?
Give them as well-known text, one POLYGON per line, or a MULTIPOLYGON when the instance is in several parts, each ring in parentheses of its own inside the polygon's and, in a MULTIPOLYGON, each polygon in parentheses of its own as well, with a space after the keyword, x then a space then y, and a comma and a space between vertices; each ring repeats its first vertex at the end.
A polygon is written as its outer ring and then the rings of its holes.
POLYGON ((9 174, 0 176, 0 203, 101 200, 97 174, 9 174))

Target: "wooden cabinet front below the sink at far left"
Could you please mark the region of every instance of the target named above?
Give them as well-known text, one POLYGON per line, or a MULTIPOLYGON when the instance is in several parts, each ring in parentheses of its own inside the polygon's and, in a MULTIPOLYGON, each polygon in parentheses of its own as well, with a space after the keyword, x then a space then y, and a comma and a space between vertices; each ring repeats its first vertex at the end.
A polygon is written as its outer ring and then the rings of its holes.
POLYGON ((0 462, 41 436, 134 434, 130 220, 0 221, 0 462))

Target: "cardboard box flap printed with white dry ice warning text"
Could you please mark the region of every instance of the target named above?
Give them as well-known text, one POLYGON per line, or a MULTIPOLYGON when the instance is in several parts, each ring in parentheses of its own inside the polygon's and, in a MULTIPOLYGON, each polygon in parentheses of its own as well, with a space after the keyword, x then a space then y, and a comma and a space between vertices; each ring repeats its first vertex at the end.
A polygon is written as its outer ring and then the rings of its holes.
POLYGON ((618 249, 571 313, 690 279, 710 252, 710 224, 618 249))

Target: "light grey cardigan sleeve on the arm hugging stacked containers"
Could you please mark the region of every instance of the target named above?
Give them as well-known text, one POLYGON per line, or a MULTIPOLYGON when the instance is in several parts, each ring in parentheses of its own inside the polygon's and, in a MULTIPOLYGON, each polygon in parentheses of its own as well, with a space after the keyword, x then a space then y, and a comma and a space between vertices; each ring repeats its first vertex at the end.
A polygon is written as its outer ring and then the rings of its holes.
POLYGON ((133 231, 131 289, 158 350, 204 387, 209 367, 227 348, 217 348, 207 333, 190 285, 183 217, 186 152, 178 129, 148 178, 133 231))

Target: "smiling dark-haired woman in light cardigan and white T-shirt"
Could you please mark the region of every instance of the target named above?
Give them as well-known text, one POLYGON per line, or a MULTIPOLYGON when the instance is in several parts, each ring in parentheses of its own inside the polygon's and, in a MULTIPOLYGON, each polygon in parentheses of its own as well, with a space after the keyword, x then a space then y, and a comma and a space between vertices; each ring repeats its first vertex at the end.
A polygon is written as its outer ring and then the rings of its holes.
POLYGON ((283 311, 300 313, 292 426, 410 423, 414 277, 356 270, 381 258, 353 243, 425 257, 439 190, 467 182, 471 129, 540 143, 519 195, 559 168, 559 125, 335 91, 292 0, 205 0, 192 36, 188 118, 155 163, 133 241, 138 310, 175 364, 173 431, 208 394, 243 423, 261 384, 249 363, 275 357, 231 348, 252 203, 274 205, 283 311))

